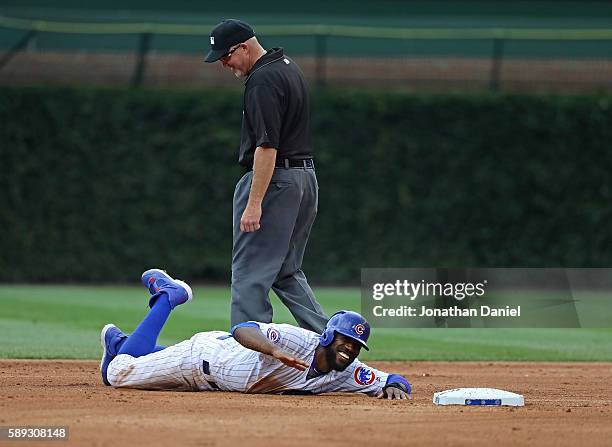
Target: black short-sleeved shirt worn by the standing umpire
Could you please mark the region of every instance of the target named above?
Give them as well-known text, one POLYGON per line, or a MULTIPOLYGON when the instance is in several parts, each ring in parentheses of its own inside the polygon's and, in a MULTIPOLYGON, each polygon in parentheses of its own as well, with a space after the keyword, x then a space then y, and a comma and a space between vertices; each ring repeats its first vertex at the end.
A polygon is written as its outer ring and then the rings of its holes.
POLYGON ((282 48, 264 54, 244 82, 238 162, 253 166, 255 149, 273 147, 276 159, 310 158, 310 104, 304 74, 282 48))

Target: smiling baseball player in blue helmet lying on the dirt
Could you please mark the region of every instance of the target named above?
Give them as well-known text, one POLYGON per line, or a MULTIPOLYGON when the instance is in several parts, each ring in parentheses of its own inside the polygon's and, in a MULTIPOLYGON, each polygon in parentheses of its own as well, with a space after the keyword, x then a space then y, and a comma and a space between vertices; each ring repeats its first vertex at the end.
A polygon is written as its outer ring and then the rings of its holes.
POLYGON ((246 322, 232 328, 232 333, 200 332, 164 347, 156 345, 157 337, 172 309, 192 299, 191 288, 158 269, 144 272, 142 283, 151 294, 151 309, 134 332, 127 336, 113 324, 102 329, 100 372, 106 385, 410 398, 411 387, 404 377, 357 359, 362 347, 368 349, 370 335, 369 323, 358 313, 337 312, 321 335, 288 324, 246 322))

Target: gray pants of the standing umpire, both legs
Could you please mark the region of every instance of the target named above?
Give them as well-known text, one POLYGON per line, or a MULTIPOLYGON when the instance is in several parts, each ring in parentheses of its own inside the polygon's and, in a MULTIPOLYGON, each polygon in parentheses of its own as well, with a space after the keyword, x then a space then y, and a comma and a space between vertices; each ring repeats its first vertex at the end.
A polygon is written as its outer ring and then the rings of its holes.
POLYGON ((276 168, 262 203, 260 229, 243 233, 240 219, 249 199, 252 179, 253 172, 247 172, 234 191, 232 327, 249 320, 271 322, 268 293, 272 289, 301 327, 323 332, 328 318, 301 270, 317 214, 315 171, 276 168))

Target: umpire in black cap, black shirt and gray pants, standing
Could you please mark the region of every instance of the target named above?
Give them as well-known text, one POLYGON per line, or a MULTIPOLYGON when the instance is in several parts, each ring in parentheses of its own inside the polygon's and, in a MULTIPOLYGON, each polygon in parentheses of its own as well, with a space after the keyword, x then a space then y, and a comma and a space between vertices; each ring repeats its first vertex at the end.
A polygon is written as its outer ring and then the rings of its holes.
POLYGON ((304 75, 240 20, 215 26, 210 47, 206 62, 245 85, 238 162, 249 171, 234 191, 231 325, 271 322, 273 289, 301 327, 321 333, 328 318, 301 270, 318 202, 304 75))

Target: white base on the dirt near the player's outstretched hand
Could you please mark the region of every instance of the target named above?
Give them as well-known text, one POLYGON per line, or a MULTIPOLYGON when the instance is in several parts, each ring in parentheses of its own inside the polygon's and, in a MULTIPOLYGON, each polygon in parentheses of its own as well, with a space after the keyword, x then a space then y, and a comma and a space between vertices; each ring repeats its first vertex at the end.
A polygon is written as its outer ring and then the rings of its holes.
POLYGON ((434 393, 436 405, 483 405, 522 407, 525 399, 520 394, 495 388, 456 388, 434 393))

